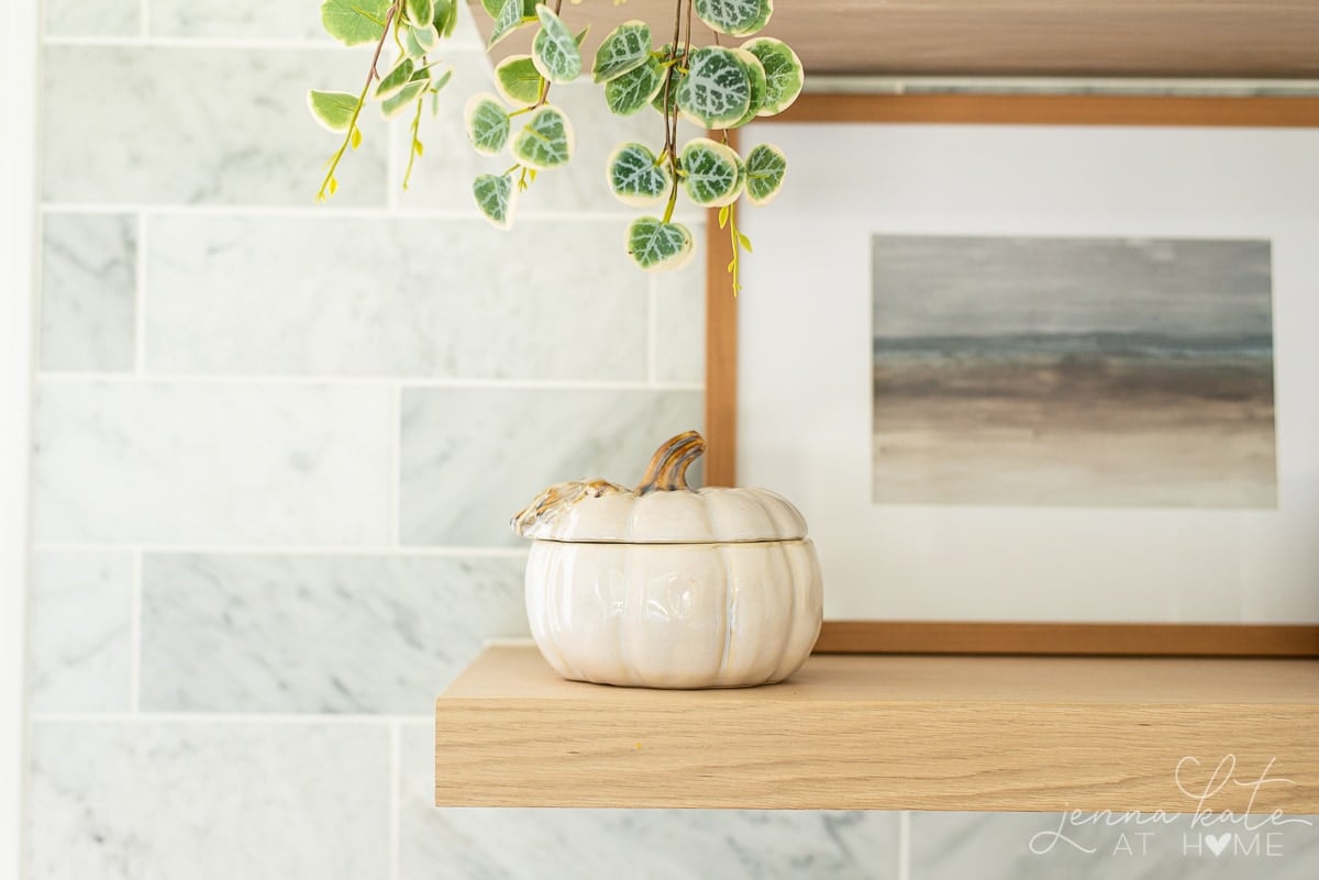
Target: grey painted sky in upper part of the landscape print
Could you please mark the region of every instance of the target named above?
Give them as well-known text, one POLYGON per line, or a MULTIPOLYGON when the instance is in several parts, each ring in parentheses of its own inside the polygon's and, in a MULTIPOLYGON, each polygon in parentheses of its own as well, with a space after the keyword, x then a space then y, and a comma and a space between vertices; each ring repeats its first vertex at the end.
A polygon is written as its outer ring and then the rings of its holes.
POLYGON ((1268 241, 873 237, 874 335, 1270 336, 1268 241))

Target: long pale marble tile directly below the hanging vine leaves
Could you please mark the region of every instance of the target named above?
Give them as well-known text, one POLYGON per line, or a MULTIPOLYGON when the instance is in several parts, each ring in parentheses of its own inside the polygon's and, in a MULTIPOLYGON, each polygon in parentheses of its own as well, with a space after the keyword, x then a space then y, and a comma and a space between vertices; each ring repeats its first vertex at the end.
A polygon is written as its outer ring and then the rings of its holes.
POLYGON ((165 373, 645 378, 621 221, 153 217, 146 365, 165 373))

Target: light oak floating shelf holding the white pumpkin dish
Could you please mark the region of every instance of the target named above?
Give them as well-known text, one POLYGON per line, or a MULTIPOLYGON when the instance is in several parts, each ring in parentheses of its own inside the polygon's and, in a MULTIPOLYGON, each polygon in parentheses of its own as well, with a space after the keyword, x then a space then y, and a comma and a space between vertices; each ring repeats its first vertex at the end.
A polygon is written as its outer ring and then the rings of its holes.
POLYGON ((1319 661, 815 655, 747 690, 561 680, 488 647, 435 703, 439 806, 1319 813, 1319 661), (1221 773, 1220 773, 1221 779, 1221 773), (1246 809, 1228 783, 1204 809, 1246 809))

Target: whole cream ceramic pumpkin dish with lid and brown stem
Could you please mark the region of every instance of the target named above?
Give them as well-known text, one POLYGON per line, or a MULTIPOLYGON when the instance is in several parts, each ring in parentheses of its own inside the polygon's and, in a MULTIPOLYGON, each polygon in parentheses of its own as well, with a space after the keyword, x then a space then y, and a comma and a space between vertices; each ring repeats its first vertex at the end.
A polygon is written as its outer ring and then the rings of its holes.
POLYGON ((563 482, 513 518, 534 541, 532 635, 565 678, 744 688, 782 681, 810 655, 823 595, 806 522, 764 489, 689 487, 704 449, 681 433, 634 490, 563 482))

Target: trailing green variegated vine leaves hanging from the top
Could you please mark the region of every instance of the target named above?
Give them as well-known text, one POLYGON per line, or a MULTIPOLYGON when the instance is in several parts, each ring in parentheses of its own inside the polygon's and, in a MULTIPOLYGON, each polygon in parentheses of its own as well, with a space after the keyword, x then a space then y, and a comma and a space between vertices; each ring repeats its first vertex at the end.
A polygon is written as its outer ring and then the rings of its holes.
MULTIPOLYGON (((450 79, 435 53, 452 34, 458 4, 464 1, 324 0, 326 30, 350 46, 375 43, 375 54, 357 94, 307 95, 317 120, 343 134, 326 163, 318 200, 338 190, 335 171, 344 154, 361 144, 359 123, 369 101, 380 104, 385 119, 412 112, 412 150, 404 175, 408 188, 413 161, 423 151, 418 138, 422 109, 427 99, 438 109, 439 91, 450 79), (381 54, 390 41, 393 58, 383 67, 381 54)), ((512 159, 501 174, 483 174, 472 182, 480 212, 508 229, 520 194, 537 174, 571 161, 572 124, 550 100, 550 91, 588 72, 603 87, 611 113, 656 112, 660 117, 662 137, 656 145, 619 144, 605 169, 620 202, 650 209, 628 227, 624 246, 632 260, 646 271, 663 271, 692 257, 691 231, 674 220, 682 192, 696 207, 719 208, 719 228, 728 231, 732 246, 728 271, 736 294, 739 258, 751 250, 751 240, 737 229, 736 204, 743 195, 754 206, 770 202, 783 184, 787 159, 769 144, 741 155, 729 145, 728 132, 782 112, 802 91, 802 63, 791 47, 754 36, 773 16, 773 0, 675 0, 667 42, 657 43, 649 24, 628 21, 605 36, 590 65, 580 53, 587 30, 574 33, 561 17, 562 0, 481 0, 481 7, 493 21, 487 49, 522 28, 534 29, 534 36, 530 55, 510 55, 495 67, 497 94, 472 95, 464 107, 472 148, 483 155, 508 153, 512 159), (714 32, 714 45, 692 45, 695 24, 714 32), (724 45, 729 37, 751 38, 724 45), (712 137, 679 144, 679 119, 712 137)))

